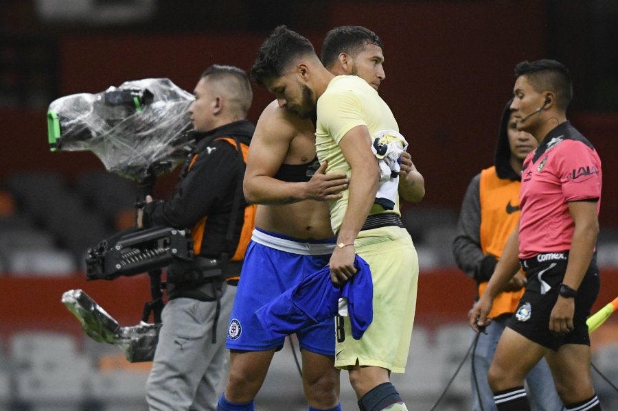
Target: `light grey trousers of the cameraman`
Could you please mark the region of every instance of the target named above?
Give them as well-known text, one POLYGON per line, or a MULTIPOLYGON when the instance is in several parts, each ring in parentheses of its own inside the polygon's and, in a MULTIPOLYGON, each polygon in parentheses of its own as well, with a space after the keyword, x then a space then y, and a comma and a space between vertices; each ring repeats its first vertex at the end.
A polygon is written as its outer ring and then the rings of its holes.
POLYGON ((212 343, 216 301, 175 298, 163 308, 159 343, 146 383, 150 411, 215 411, 225 388, 229 352, 227 326, 236 287, 224 285, 212 343))

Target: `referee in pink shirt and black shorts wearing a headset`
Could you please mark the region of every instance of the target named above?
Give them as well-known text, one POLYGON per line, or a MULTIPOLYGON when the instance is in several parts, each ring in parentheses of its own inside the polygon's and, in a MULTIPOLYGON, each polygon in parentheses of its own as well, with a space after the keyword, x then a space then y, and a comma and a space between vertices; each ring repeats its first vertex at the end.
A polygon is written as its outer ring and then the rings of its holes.
POLYGON ((599 292, 601 161, 567 120, 573 97, 569 70, 555 60, 515 67, 511 108, 518 130, 538 148, 523 163, 518 227, 507 240, 487 289, 470 310, 470 326, 488 325, 493 298, 520 266, 525 294, 503 332, 488 372, 499 411, 529 411, 528 371, 547 359, 567 411, 600 411, 591 378, 586 318, 599 292))

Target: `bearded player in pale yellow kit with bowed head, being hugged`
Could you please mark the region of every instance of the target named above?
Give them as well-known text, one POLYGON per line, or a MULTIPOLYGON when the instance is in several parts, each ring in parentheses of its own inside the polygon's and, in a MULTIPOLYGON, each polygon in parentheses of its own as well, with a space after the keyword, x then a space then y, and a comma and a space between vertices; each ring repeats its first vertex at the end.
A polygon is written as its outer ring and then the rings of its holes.
POLYGON ((382 163, 396 173, 396 161, 388 159, 407 142, 376 89, 356 76, 330 73, 309 41, 287 27, 277 27, 264 42, 251 76, 275 94, 280 107, 316 119, 316 150, 328 164, 325 172, 350 180, 341 198, 328 201, 337 244, 331 277, 336 284, 352 278, 356 253, 369 263, 373 322, 359 340, 352 338, 349 320, 339 324, 335 366, 349 372, 361 410, 407 410, 389 375, 404 372, 418 261, 400 220, 398 180, 380 178, 382 163))

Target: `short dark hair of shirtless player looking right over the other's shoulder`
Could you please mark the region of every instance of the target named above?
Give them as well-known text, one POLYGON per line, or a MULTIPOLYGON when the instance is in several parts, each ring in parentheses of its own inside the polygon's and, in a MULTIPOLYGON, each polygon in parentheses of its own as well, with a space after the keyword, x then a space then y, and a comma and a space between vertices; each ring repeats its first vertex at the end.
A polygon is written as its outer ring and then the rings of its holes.
POLYGON ((322 43, 321 60, 324 67, 331 67, 339 58, 339 54, 356 54, 365 45, 374 44, 382 47, 378 35, 360 25, 342 25, 330 30, 322 43))

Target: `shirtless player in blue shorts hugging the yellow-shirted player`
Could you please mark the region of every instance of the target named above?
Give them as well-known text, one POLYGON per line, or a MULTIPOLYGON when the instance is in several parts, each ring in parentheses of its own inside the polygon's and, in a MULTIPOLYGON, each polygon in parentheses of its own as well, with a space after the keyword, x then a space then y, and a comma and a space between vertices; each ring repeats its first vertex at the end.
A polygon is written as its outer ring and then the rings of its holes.
MULTIPOLYGON (((358 26, 336 27, 325 38, 322 59, 335 74, 355 74, 374 89, 385 79, 382 43, 358 26)), ((315 152, 310 113, 273 101, 258 120, 249 148, 244 194, 257 203, 255 231, 230 318, 227 347, 230 375, 220 410, 253 410, 273 355, 284 340, 269 340, 253 316, 256 309, 328 264, 335 237, 325 200, 340 198, 345 174, 324 174, 315 152)), ((411 156, 401 158, 400 193, 409 201, 424 196, 424 180, 411 156)), ((334 368, 334 321, 302 329, 303 386, 309 410, 341 410, 339 371, 334 368)))

